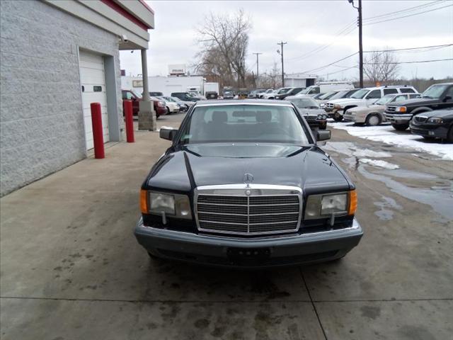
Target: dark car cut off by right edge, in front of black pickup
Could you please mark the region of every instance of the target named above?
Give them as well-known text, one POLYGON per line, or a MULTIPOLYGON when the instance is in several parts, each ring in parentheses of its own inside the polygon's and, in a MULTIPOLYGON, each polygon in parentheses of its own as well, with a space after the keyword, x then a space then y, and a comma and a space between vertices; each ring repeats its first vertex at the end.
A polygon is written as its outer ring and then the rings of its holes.
POLYGON ((413 135, 453 142, 453 108, 414 115, 409 126, 413 135))

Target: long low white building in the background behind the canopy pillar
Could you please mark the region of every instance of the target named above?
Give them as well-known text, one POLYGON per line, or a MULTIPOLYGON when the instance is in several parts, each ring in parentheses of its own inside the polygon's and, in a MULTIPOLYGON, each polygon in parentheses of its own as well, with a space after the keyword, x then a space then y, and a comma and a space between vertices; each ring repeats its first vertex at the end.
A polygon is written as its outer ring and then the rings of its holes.
MULTIPOLYGON (((170 96, 172 92, 185 92, 190 88, 197 88, 197 91, 202 91, 204 79, 201 76, 188 77, 148 77, 149 91, 159 91, 164 96, 170 96)), ((143 92, 142 77, 121 77, 122 90, 134 90, 138 94, 143 92)))

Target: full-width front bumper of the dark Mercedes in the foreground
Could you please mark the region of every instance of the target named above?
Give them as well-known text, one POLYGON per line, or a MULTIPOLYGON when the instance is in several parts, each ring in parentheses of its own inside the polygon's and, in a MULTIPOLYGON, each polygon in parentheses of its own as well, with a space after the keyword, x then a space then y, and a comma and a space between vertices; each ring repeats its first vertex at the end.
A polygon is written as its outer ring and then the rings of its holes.
POLYGON ((161 258, 211 266, 262 268, 339 259, 357 246, 363 232, 354 219, 352 227, 345 229, 250 239, 148 227, 140 218, 134 234, 139 244, 161 258))

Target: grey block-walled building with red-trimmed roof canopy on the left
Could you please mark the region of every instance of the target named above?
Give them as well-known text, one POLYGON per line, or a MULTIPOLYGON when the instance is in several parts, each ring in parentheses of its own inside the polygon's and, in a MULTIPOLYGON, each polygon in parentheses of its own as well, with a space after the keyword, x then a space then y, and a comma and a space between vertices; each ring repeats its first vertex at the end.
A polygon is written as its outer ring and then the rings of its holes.
POLYGON ((154 12, 139 0, 1 0, 0 19, 3 196, 87 156, 90 103, 104 141, 121 140, 119 50, 141 50, 147 73, 154 12))

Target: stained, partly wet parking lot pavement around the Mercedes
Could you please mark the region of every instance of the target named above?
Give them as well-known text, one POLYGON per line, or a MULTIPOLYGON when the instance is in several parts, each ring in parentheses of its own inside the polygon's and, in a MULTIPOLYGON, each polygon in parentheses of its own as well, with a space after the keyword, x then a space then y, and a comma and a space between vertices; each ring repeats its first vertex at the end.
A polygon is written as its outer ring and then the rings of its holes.
MULTIPOLYGON (((161 117, 177 127, 182 114, 161 117)), ((1 198, 2 339, 450 339, 453 162, 332 130, 365 236, 273 271, 151 261, 134 239, 157 132, 1 198), (384 160, 398 169, 361 161, 384 160)))

